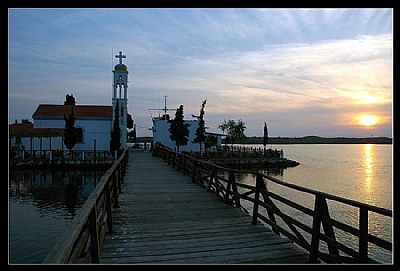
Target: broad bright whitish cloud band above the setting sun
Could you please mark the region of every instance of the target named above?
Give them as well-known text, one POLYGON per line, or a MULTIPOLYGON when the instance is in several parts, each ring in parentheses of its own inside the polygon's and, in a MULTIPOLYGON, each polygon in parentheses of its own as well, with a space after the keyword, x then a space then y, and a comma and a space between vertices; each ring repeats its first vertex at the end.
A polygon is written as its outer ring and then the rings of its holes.
POLYGON ((297 106, 341 95, 337 89, 344 86, 375 87, 390 93, 390 44, 389 35, 363 36, 318 44, 268 46, 213 58, 181 59, 170 67, 168 75, 179 74, 182 80, 174 83, 173 78, 162 79, 176 89, 191 82, 190 88, 194 90, 208 89, 226 98, 235 97, 235 92, 236 95, 246 92, 249 99, 263 94, 275 96, 278 102, 291 96, 297 106), (359 44, 363 45, 362 50, 358 50, 359 44))

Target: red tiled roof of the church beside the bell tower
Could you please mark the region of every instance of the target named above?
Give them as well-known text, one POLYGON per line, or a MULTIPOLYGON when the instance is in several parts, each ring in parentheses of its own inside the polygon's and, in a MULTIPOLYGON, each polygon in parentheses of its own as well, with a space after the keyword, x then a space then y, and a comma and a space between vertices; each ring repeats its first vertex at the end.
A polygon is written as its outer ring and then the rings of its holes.
POLYGON ((113 109, 111 105, 52 105, 40 104, 33 113, 33 119, 38 117, 60 117, 64 118, 71 114, 74 107, 74 115, 77 118, 109 118, 112 119, 113 109))

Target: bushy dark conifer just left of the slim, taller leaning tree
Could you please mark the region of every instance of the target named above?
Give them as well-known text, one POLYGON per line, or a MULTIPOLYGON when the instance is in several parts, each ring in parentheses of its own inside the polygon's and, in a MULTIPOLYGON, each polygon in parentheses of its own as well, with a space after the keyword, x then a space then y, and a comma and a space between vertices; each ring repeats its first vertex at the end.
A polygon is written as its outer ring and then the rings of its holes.
POLYGON ((183 105, 180 105, 176 110, 175 119, 171 121, 171 126, 168 130, 171 133, 170 138, 175 141, 179 152, 179 146, 186 145, 189 140, 189 124, 185 123, 183 119, 183 105))

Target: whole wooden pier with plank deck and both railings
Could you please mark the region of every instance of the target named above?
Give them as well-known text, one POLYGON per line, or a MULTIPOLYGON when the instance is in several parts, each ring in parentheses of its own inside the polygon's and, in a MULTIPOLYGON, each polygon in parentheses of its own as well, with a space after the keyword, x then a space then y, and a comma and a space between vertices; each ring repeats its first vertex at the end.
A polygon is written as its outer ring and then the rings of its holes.
POLYGON ((43 263, 380 263, 372 246, 391 255, 393 242, 370 233, 370 217, 392 223, 393 212, 163 146, 126 149, 43 263), (236 181, 243 173, 255 185, 236 181), (313 207, 266 182, 302 193, 313 207), (338 205, 353 210, 355 223, 331 216, 338 205))

